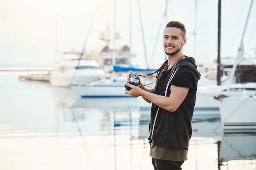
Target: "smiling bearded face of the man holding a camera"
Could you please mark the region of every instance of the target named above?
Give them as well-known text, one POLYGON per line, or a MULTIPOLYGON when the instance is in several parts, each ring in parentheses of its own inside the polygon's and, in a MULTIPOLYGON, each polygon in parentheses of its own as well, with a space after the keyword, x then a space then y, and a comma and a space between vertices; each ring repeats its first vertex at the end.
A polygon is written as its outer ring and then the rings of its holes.
POLYGON ((166 55, 175 55, 180 51, 182 52, 184 44, 186 44, 186 38, 182 37, 180 29, 176 27, 164 29, 163 45, 166 55))

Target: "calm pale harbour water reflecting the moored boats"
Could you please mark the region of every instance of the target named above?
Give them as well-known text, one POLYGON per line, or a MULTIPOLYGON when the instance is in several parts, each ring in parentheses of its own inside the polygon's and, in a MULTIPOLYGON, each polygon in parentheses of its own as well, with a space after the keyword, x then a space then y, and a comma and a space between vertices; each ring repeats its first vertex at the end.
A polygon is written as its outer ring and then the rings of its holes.
MULTIPOLYGON (((0 170, 153 170, 137 98, 80 99, 21 74, 0 73, 0 170)), ((256 170, 256 135, 197 114, 182 170, 256 170)))

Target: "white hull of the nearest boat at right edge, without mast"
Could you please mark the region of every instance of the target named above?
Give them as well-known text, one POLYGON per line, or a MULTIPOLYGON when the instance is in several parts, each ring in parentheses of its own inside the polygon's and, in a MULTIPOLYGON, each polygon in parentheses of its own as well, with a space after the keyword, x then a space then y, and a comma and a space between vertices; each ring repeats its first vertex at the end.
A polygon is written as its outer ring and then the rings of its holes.
POLYGON ((218 99, 225 133, 256 132, 256 83, 241 84, 234 91, 222 92, 218 99))

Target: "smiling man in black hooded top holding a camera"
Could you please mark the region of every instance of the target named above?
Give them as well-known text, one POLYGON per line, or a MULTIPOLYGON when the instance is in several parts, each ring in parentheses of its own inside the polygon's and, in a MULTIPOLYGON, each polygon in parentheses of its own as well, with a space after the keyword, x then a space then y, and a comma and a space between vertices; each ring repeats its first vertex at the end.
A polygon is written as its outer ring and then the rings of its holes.
MULTIPOLYGON (((193 57, 183 55, 186 44, 184 24, 171 21, 163 32, 164 51, 168 57, 157 70, 152 88, 126 83, 131 97, 143 97, 151 103, 148 137, 155 170, 181 170, 187 160, 192 135, 192 116, 200 73, 193 57)), ((128 73, 128 82, 130 73, 128 73)), ((137 75, 139 81, 139 75, 137 75)))

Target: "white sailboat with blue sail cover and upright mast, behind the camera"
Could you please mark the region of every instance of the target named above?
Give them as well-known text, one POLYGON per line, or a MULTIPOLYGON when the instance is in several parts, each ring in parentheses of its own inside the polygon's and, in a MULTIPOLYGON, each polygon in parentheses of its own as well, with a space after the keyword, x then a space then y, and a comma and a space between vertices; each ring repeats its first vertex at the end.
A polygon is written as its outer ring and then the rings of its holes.
MULTIPOLYGON (((114 9, 115 12, 115 9, 114 9)), ((115 14, 114 14, 115 17, 115 14)), ((114 18, 115 20, 115 18, 114 18)), ((108 65, 109 68, 112 68, 112 73, 110 79, 103 79, 100 81, 92 82, 91 84, 72 84, 69 87, 74 91, 74 93, 80 95, 82 98, 99 98, 99 97, 130 97, 130 95, 125 94, 125 86, 124 83, 126 82, 127 79, 127 72, 132 70, 136 71, 136 73, 143 74, 143 73, 148 73, 151 71, 155 71, 155 69, 141 69, 138 67, 131 67, 130 59, 132 57, 136 57, 136 55, 132 55, 130 53, 130 48, 126 46, 126 51, 117 51, 115 48, 115 40, 118 39, 119 37, 116 37, 115 33, 115 22, 114 22, 114 38, 113 40, 113 49, 108 50, 108 53, 112 53, 111 55, 108 56, 108 60, 104 61, 104 64, 108 65), (125 53, 123 53, 125 52, 125 53), (112 57, 112 58, 110 58, 112 57), (110 60, 111 59, 111 60, 110 60), (118 61, 124 61, 124 63, 118 63, 118 61), (108 64, 111 63, 111 64, 108 64), (118 65, 119 64, 119 65, 118 65), (124 73, 125 75, 122 76, 121 73, 124 73), (120 75, 119 75, 120 73, 120 75)), ((110 38, 101 38, 102 40, 107 41, 107 46, 108 43, 111 40, 110 38)), ((109 49, 109 48, 106 48, 109 49)), ((102 60, 103 57, 101 57, 102 60)), ((95 60, 97 58, 94 57, 95 60)), ((150 77, 152 78, 152 77, 150 77)))

